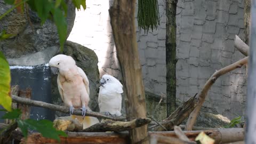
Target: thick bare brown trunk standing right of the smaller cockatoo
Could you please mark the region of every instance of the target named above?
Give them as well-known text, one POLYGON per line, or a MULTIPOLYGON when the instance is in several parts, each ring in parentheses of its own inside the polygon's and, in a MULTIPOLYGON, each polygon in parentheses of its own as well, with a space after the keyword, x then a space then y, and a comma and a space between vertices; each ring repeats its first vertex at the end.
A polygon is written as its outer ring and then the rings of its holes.
MULTIPOLYGON (((115 0, 109 9, 117 58, 121 65, 126 116, 129 121, 146 118, 145 91, 142 81, 135 29, 135 0, 115 0)), ((131 143, 149 143, 147 125, 130 130, 131 143)))

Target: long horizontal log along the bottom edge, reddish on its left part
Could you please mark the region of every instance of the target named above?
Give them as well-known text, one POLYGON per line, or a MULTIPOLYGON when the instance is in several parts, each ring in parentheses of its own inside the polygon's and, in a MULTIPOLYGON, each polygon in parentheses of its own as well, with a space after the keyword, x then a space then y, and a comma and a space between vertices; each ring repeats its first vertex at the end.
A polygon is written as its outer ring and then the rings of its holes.
MULTIPOLYGON (((190 141, 195 141, 197 135, 202 131, 183 131, 190 141)), ((217 129, 203 131, 215 143, 230 143, 244 140, 243 128, 217 129)), ((68 137, 60 137, 60 143, 130 143, 129 133, 125 132, 67 132, 68 137)), ((149 132, 150 138, 154 135, 178 138, 175 132, 149 132)), ((28 135, 27 140, 22 139, 22 143, 58 143, 56 140, 42 137, 39 133, 28 135)))

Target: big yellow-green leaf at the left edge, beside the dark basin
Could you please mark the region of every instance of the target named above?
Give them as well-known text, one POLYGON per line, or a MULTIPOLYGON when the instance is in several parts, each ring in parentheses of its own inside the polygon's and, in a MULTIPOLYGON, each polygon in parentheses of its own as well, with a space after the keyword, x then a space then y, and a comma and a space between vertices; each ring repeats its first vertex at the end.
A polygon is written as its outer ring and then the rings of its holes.
POLYGON ((9 63, 4 57, 4 54, 0 51, 0 105, 2 105, 7 111, 12 110, 12 98, 10 97, 10 82, 11 73, 9 63))

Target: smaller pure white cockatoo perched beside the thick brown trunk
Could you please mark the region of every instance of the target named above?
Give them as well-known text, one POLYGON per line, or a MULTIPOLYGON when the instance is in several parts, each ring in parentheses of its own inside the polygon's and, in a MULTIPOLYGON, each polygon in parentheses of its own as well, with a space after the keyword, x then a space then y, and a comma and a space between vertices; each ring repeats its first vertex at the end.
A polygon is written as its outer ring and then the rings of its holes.
POLYGON ((121 116, 123 85, 113 76, 103 75, 100 79, 100 113, 121 116))

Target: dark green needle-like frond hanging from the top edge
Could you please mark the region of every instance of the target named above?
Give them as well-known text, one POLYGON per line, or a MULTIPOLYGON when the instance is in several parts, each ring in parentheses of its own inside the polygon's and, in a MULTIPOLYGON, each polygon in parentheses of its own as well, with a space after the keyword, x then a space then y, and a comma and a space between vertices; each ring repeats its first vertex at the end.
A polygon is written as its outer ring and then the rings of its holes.
POLYGON ((138 0, 138 25, 148 32, 159 25, 159 10, 157 0, 138 0))

